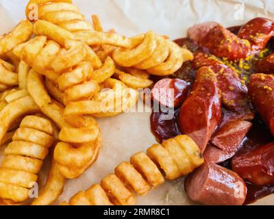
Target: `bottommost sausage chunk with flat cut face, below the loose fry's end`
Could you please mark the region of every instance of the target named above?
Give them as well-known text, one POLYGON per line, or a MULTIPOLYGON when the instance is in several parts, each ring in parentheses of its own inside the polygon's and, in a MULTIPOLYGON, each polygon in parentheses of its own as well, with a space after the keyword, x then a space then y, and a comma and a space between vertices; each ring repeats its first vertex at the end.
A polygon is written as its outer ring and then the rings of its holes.
POLYGON ((236 172, 205 162, 187 177, 186 193, 203 205, 242 205, 247 187, 236 172))

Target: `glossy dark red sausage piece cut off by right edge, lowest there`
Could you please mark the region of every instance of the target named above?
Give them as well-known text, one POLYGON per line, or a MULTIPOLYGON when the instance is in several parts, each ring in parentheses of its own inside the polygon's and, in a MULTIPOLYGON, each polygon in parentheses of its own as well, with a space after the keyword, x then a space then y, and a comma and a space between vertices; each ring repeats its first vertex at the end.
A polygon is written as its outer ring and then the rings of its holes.
POLYGON ((234 157, 232 169, 255 185, 274 185, 274 142, 234 157))

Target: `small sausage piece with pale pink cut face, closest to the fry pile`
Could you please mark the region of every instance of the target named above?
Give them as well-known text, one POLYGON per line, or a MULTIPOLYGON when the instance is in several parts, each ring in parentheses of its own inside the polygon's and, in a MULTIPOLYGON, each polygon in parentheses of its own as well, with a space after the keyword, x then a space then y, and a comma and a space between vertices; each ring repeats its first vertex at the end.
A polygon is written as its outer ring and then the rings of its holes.
POLYGON ((151 90, 152 99, 166 107, 178 107, 186 99, 190 83, 181 79, 162 79, 151 90))

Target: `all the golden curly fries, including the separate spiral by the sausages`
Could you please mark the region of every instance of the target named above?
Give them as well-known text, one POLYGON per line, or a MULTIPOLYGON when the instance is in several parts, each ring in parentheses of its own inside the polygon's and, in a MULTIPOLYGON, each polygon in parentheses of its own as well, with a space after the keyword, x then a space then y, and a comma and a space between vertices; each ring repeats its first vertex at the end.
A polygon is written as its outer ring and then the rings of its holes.
MULTIPOLYGON (((43 159, 52 151, 47 183, 32 202, 49 205, 62 193, 66 179, 79 177, 96 161, 101 132, 95 118, 132 108, 138 100, 137 89, 153 84, 151 75, 172 75, 192 59, 192 53, 153 31, 132 38, 114 30, 105 32, 98 16, 92 16, 90 25, 71 0, 31 0, 26 16, 27 20, 0 37, 0 145, 6 146, 0 166, 0 198, 7 204, 27 201, 43 159), (37 18, 30 16, 34 10, 37 18)), ((186 175, 203 159, 194 142, 186 138, 184 144, 184 139, 178 139, 174 145, 150 148, 150 158, 135 155, 132 164, 116 168, 116 175, 133 184, 138 194, 145 194, 149 184, 163 182, 151 159, 164 167, 167 179, 186 175), (160 159, 161 155, 166 158, 160 159), (142 162, 148 166, 144 168, 142 162), (141 168, 146 181, 136 168, 141 168), (170 168, 175 175, 169 175, 170 168), (125 175, 126 170, 133 172, 140 185, 125 175), (153 170, 155 179, 149 172, 153 170)), ((134 203, 116 175, 104 179, 102 187, 89 190, 90 196, 103 200, 92 199, 89 204, 134 203), (113 186, 125 197, 112 194, 113 186)), ((87 192, 81 194, 89 200, 87 192)), ((85 204, 78 199, 74 202, 85 204)))

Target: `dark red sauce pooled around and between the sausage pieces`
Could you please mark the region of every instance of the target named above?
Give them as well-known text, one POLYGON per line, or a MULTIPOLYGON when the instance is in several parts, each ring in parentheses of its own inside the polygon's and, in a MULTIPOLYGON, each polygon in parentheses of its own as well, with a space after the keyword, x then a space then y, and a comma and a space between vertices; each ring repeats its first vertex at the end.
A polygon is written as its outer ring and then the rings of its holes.
MULTIPOLYGON (((238 34, 241 26, 229 27, 229 31, 232 31, 234 34, 238 34)), ((180 38, 175 40, 179 46, 184 46, 190 49, 190 51, 195 52, 198 47, 197 44, 191 42, 188 38, 180 38)), ((269 42, 269 48, 274 50, 274 39, 269 42)), ((253 63, 251 63, 252 66, 253 63)), ((192 68, 191 61, 184 62, 182 68, 177 70, 174 75, 171 75, 171 78, 179 78, 184 79, 185 81, 190 82, 190 85, 195 81, 195 75, 197 71, 192 68)), ((253 73, 253 70, 249 70, 249 74, 253 73)), ((244 72, 245 74, 245 72, 244 72)), ((153 78, 154 79, 154 78, 153 78)), ((155 77, 155 81, 162 79, 162 77, 155 77)), ((223 109, 224 110, 224 109, 223 109)), ((224 110, 225 111, 225 110, 224 110)), ((151 131, 155 135, 156 140, 158 142, 163 142, 166 139, 173 138, 177 135, 182 134, 179 131, 178 125, 178 117, 179 117, 179 109, 175 110, 175 116, 172 120, 162 120, 162 117, 165 114, 162 112, 152 112, 151 114, 151 131)), ((242 146, 240 147, 238 153, 236 155, 240 155, 242 153, 247 153, 256 149, 256 147, 264 145, 269 142, 273 142, 274 138, 271 135, 269 129, 264 125, 262 120, 260 120, 259 116, 256 116, 253 121, 253 127, 247 133, 246 138, 242 141, 242 146)), ((231 169, 230 159, 220 164, 225 168, 231 169)), ((247 198, 245 201, 245 205, 250 204, 258 200, 259 198, 263 198, 271 193, 274 193, 274 185, 273 186, 258 186, 252 185, 247 182, 247 198)))

